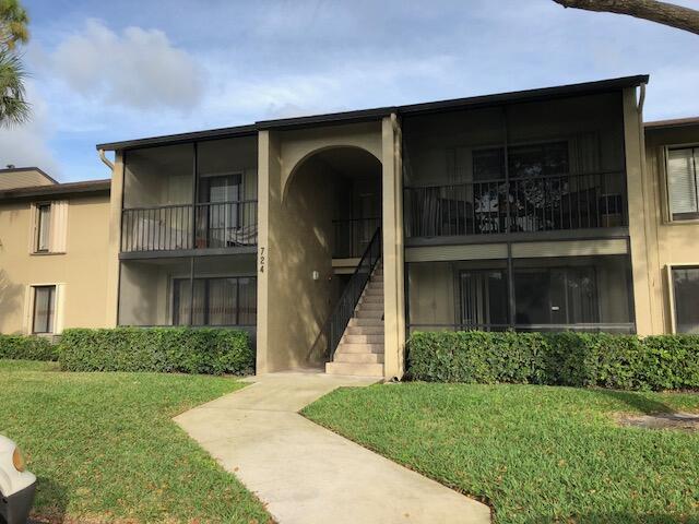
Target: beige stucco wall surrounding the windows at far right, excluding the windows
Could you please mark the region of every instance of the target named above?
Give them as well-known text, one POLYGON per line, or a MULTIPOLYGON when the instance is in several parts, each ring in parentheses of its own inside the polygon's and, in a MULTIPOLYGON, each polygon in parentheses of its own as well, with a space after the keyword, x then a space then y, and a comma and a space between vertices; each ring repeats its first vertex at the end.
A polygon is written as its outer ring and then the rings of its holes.
POLYGON ((655 333, 671 332, 672 309, 668 266, 699 264, 699 221, 671 222, 666 205, 665 146, 699 144, 699 124, 645 132, 647 196, 642 213, 648 242, 650 309, 655 333))

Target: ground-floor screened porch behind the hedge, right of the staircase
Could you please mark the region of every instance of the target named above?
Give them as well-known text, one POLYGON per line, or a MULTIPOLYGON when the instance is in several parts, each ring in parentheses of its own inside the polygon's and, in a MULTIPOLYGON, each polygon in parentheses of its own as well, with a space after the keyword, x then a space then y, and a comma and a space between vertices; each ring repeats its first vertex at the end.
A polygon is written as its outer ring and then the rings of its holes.
POLYGON ((419 262, 406 277, 411 332, 636 330, 627 255, 419 262))

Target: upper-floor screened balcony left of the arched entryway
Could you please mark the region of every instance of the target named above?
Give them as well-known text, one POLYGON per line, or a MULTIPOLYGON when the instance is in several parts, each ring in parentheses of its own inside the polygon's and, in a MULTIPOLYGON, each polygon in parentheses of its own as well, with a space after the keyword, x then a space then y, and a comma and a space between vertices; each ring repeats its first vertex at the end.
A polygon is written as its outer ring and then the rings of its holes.
POLYGON ((129 151, 121 251, 257 246, 257 139, 129 151))

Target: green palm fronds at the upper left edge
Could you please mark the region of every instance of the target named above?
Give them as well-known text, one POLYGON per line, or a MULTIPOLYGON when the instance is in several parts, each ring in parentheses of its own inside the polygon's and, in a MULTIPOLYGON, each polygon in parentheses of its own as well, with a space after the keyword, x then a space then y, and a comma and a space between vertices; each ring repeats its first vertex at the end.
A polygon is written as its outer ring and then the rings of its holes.
POLYGON ((26 73, 16 55, 16 45, 29 38, 28 23, 19 0, 0 0, 0 127, 29 118, 24 91, 26 73))

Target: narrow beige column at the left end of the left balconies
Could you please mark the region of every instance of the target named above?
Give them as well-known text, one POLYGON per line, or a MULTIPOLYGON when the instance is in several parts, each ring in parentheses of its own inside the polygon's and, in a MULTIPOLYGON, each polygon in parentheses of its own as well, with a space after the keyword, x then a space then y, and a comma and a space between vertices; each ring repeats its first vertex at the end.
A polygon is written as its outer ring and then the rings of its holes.
POLYGON ((116 327, 119 314, 119 251, 121 247, 121 202, 123 200, 122 152, 115 155, 109 193, 109 245, 107 253, 107 307, 105 327, 116 327))

